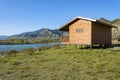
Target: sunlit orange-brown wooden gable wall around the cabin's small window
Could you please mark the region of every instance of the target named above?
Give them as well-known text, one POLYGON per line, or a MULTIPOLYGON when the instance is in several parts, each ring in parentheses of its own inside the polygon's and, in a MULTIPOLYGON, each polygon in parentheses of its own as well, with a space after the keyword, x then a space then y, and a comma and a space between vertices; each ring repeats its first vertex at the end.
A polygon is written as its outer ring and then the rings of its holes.
POLYGON ((91 22, 78 20, 69 27, 70 44, 91 44, 91 22), (76 29, 83 28, 83 32, 76 32, 76 29))

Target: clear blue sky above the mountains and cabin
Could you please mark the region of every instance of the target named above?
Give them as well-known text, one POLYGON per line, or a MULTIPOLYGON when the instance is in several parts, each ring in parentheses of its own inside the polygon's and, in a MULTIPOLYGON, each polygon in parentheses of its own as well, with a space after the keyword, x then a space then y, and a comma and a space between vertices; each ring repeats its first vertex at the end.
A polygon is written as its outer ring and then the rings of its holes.
POLYGON ((120 0, 0 0, 0 35, 58 29, 76 16, 120 18, 120 0))

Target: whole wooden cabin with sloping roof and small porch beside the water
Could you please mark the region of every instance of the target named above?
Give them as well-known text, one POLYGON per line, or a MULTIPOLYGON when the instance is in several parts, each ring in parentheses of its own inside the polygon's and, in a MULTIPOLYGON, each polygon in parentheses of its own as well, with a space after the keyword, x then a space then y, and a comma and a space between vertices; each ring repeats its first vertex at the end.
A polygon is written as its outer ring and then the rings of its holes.
POLYGON ((59 28, 63 44, 111 45, 112 25, 99 20, 76 17, 59 28))

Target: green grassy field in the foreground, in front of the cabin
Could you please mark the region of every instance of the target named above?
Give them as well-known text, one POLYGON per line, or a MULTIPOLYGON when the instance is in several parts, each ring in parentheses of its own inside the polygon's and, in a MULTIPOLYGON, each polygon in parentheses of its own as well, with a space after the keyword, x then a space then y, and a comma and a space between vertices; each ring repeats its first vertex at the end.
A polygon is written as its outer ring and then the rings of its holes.
POLYGON ((6 54, 0 57, 0 80, 120 80, 120 48, 6 54))

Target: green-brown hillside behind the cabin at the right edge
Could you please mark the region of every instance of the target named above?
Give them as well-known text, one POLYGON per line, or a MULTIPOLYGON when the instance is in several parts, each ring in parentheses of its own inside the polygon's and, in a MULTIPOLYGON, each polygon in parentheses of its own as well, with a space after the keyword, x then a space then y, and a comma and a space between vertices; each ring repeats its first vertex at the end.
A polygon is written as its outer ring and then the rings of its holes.
POLYGON ((112 29, 112 38, 113 39, 116 39, 118 37, 120 38, 120 18, 117 18, 117 19, 112 20, 112 21, 109 21, 105 18, 100 18, 99 20, 116 26, 117 28, 112 29))

